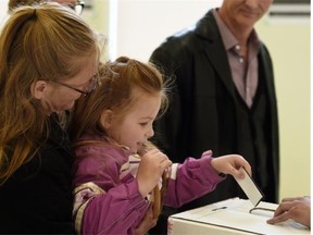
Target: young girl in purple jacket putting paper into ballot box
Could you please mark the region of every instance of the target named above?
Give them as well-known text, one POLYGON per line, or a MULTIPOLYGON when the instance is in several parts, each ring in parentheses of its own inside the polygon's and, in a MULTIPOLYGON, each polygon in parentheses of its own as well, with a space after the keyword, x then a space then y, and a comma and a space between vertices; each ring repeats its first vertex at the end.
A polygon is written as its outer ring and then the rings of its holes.
POLYGON ((107 73, 100 70, 101 85, 76 103, 70 126, 77 233, 134 234, 151 205, 158 217, 160 198, 180 207, 213 190, 222 174, 242 177, 240 166, 251 174, 240 156, 212 158, 206 151, 172 164, 158 148, 147 148, 153 121, 167 103, 162 75, 152 64, 125 57, 108 66, 107 73))

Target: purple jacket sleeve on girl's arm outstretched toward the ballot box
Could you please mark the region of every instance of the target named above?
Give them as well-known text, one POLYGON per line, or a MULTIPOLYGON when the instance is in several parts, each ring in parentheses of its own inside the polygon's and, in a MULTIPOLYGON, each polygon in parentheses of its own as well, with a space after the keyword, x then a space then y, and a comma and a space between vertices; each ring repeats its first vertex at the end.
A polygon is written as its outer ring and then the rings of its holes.
POLYGON ((215 189, 225 180, 211 165, 211 156, 187 158, 183 164, 173 164, 164 205, 178 208, 215 189))

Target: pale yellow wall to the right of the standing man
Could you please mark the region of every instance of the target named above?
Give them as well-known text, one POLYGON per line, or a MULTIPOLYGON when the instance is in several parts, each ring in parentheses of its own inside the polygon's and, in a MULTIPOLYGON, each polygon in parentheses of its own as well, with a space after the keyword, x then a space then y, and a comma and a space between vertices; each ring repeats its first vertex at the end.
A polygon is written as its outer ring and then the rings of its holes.
POLYGON ((280 127, 280 198, 310 195, 310 20, 258 25, 274 62, 280 127))

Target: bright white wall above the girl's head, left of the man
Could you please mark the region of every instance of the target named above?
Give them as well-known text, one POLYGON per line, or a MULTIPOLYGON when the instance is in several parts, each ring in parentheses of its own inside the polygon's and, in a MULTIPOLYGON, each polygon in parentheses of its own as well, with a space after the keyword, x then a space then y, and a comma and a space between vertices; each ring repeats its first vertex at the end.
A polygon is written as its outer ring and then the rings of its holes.
MULTIPOLYGON (((193 24, 209 8, 221 0, 112 0, 117 8, 117 21, 110 35, 116 35, 116 52, 112 58, 127 54, 148 60, 165 37, 193 24)), ((113 44, 113 42, 112 42, 113 44)))

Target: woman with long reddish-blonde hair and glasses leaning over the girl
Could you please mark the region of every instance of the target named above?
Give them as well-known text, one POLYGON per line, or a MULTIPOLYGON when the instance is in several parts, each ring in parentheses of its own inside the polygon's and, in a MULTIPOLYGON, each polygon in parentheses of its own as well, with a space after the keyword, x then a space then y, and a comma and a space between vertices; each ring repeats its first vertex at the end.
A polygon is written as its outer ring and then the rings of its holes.
POLYGON ((71 234, 64 111, 97 85, 97 37, 58 3, 23 7, 0 36, 0 233, 71 234))

